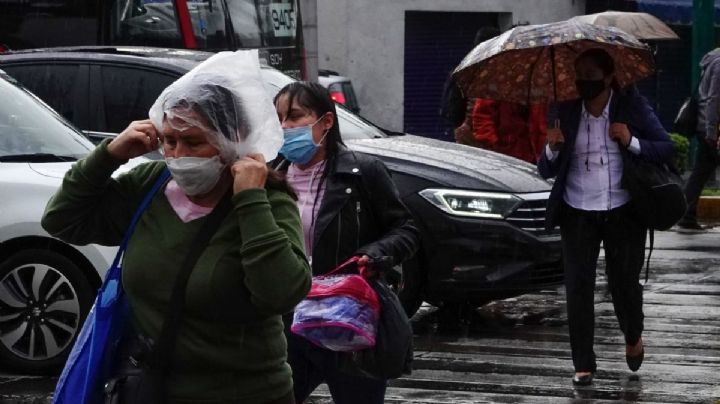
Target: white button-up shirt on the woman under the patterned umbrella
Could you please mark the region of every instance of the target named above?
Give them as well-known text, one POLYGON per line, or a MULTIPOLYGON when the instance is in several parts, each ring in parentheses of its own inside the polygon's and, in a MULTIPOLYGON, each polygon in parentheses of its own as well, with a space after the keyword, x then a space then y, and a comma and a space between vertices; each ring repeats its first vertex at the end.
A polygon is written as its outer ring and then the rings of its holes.
MULTIPOLYGON (((621 187, 623 162, 620 146, 610 139, 610 100, 598 117, 582 106, 575 147, 570 156, 565 184, 565 202, 581 210, 604 211, 617 208, 630 200, 628 192, 621 187)), ((628 147, 634 154, 640 153, 640 142, 631 137, 628 147)), ((559 152, 545 149, 552 161, 559 152)))

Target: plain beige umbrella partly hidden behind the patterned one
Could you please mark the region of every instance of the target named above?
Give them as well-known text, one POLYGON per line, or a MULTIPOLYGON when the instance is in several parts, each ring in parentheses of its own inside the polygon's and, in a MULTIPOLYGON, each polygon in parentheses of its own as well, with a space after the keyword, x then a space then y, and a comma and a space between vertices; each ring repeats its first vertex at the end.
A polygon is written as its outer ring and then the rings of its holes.
POLYGON ((596 14, 578 15, 572 19, 588 24, 619 28, 635 38, 645 41, 680 39, 667 24, 648 13, 605 11, 596 14))

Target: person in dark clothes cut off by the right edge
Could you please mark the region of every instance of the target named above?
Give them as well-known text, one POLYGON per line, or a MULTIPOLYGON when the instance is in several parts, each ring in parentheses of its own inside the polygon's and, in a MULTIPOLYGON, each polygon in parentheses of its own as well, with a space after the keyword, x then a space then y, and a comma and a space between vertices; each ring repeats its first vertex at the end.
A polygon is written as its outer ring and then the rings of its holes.
POLYGON ((703 227, 697 220, 697 204, 705 183, 720 163, 720 48, 708 52, 700 60, 701 80, 698 86, 697 152, 695 164, 685 184, 688 209, 677 226, 682 231, 698 232, 703 227))

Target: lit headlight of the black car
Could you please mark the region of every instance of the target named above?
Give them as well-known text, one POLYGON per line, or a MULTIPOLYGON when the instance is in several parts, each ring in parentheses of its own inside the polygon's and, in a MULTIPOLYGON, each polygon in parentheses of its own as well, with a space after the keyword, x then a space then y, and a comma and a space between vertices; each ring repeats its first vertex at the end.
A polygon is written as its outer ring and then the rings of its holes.
POLYGON ((451 215, 504 219, 522 199, 500 192, 463 191, 456 189, 425 189, 420 196, 451 215))

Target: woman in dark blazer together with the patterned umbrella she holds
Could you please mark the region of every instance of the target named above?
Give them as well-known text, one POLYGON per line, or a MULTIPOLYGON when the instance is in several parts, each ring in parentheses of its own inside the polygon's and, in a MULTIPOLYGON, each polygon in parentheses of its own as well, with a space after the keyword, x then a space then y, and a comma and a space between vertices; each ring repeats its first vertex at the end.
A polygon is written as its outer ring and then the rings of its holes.
POLYGON ((555 128, 548 128, 538 169, 556 178, 546 227, 559 225, 562 236, 576 385, 590 384, 597 369, 594 292, 601 243, 632 371, 645 352, 639 275, 647 229, 622 184, 623 156, 671 164, 672 141, 631 85, 649 77, 653 64, 652 52, 637 38, 571 19, 506 31, 475 47, 453 73, 468 97, 557 106, 550 108, 555 128))

